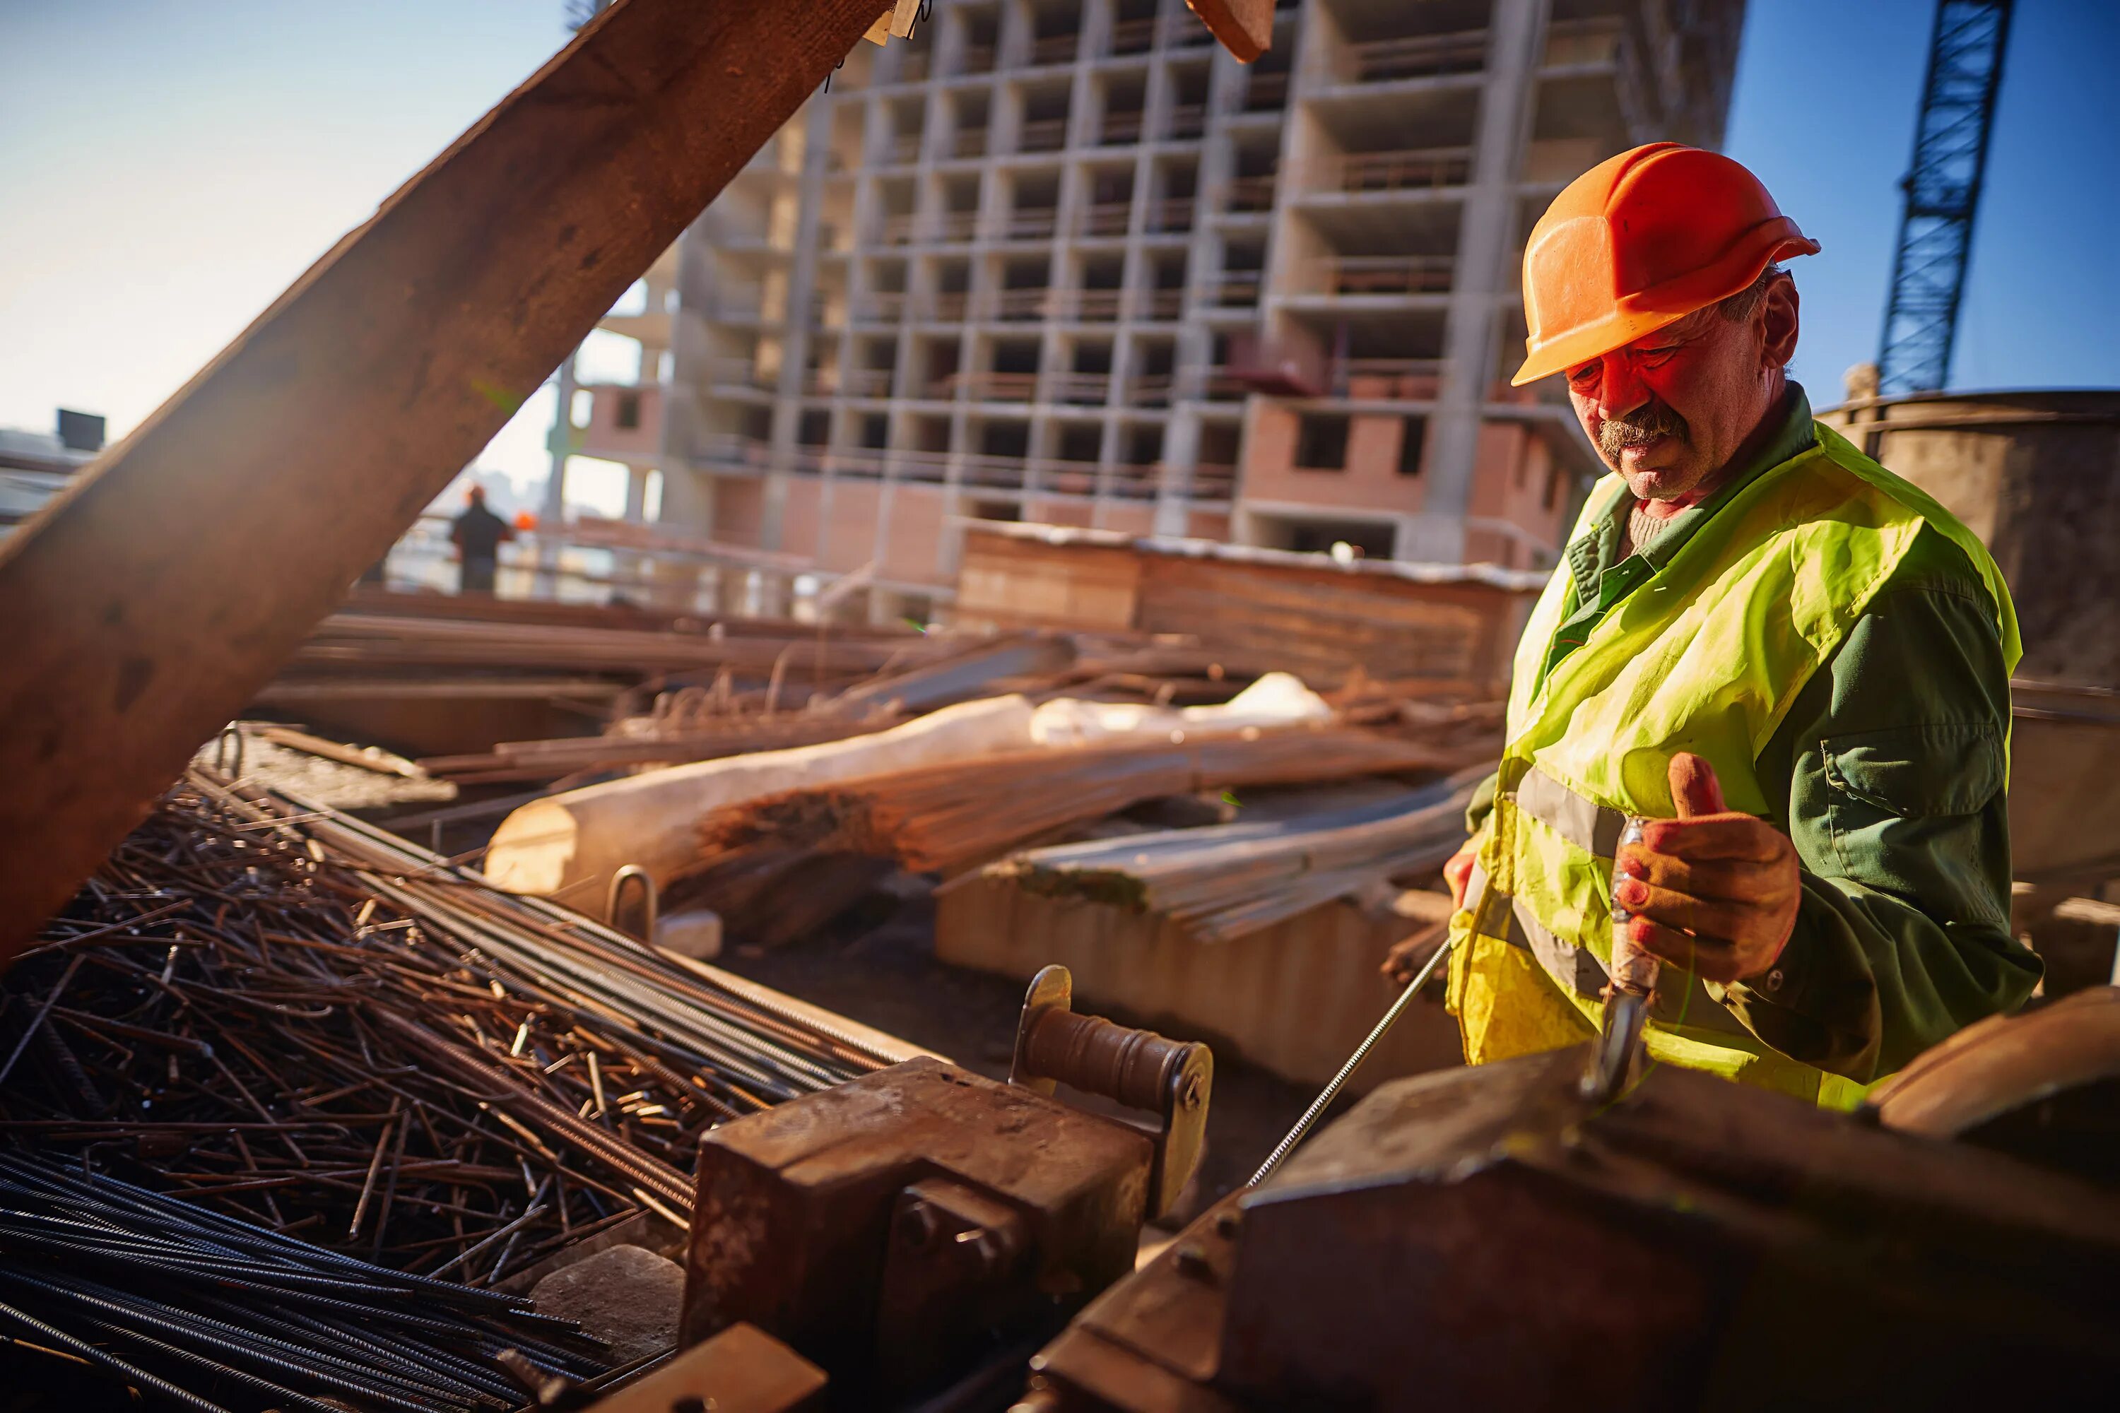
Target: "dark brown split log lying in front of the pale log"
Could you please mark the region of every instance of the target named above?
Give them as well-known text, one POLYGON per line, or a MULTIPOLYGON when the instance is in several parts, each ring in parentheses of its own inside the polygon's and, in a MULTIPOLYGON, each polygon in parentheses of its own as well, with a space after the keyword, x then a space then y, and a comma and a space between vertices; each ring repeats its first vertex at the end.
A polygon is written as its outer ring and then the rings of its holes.
MULTIPOLYGON (((1183 733, 1174 733, 1183 737, 1183 733)), ((799 936, 882 873, 948 873, 1143 801, 1459 765, 1416 741, 1338 727, 1011 752, 787 790, 700 822, 672 898, 761 943, 799 936)))

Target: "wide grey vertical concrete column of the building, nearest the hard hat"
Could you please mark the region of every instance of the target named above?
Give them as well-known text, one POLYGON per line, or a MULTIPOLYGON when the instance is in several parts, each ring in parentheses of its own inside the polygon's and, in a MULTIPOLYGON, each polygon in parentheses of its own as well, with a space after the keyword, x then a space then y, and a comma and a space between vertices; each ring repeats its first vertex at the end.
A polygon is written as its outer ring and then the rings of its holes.
POLYGON ((1501 309, 1516 286, 1516 178, 1537 100, 1552 0, 1495 0, 1471 180, 1459 220, 1456 273, 1444 328, 1444 375, 1429 424, 1427 496, 1401 525, 1399 559, 1465 559, 1465 515, 1480 460, 1480 405, 1499 356, 1501 309))

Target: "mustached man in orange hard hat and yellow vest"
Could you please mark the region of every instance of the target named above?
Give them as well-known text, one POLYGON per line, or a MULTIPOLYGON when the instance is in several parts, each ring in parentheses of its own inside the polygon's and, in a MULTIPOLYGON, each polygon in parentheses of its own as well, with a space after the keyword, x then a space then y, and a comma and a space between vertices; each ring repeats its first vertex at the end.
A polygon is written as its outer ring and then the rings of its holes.
POLYGON ((1817 250, 1743 165, 1671 142, 1531 233, 1512 381, 1567 379, 1611 475, 1448 869, 1471 1063, 1596 1034, 1613 900, 1664 964, 1651 1059, 1830 1106, 2039 979, 2010 932, 2010 591, 1789 381, 1779 261, 1817 250))

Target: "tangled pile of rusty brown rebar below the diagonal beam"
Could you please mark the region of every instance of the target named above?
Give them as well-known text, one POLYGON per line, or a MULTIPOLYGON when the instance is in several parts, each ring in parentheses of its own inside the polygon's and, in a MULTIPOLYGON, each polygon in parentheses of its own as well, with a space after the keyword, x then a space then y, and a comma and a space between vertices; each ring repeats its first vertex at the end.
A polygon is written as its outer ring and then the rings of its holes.
POLYGON ((490 1286, 683 1224, 700 1135, 897 1055, 193 771, 4 983, 0 1133, 490 1286))

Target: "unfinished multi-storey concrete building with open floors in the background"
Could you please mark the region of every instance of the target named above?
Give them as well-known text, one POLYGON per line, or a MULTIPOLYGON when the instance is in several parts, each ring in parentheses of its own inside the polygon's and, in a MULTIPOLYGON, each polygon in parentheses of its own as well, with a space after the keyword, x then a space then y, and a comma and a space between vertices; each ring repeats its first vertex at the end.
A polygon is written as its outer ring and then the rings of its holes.
POLYGON ((640 383, 579 449, 632 515, 659 470, 672 527, 873 566, 878 619, 950 602, 960 517, 1545 568, 1594 462, 1505 381, 1522 239, 1719 142, 1743 11, 1300 0, 1242 66, 1181 0, 937 0, 604 322, 640 383))

